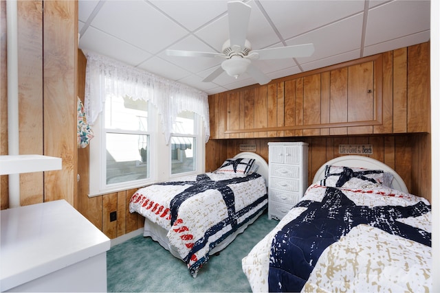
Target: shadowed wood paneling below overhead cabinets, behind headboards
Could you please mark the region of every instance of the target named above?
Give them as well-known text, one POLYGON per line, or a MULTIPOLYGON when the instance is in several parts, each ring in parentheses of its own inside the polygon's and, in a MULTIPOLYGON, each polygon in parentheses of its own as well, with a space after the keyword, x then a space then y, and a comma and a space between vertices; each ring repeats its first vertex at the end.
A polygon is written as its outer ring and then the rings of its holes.
POLYGON ((430 200, 430 134, 393 134, 342 137, 282 137, 257 139, 213 139, 206 145, 206 172, 217 169, 225 159, 240 152, 241 144, 256 145, 256 154, 269 159, 268 142, 304 141, 309 143, 308 183, 321 165, 342 156, 340 144, 371 144, 369 157, 395 169, 412 194, 430 200))

